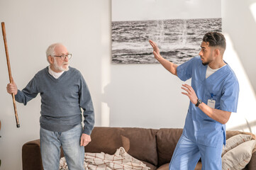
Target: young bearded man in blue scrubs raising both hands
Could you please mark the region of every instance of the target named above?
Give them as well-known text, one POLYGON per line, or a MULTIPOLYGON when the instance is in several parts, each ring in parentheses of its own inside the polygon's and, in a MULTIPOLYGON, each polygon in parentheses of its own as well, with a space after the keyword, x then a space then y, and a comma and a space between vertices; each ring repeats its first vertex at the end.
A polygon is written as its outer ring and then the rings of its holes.
POLYGON ((226 143, 226 123, 238 106, 238 79, 223 61, 226 40, 221 33, 206 33, 201 42, 200 57, 177 66, 160 55, 150 40, 155 58, 182 81, 182 94, 190 99, 182 136, 172 155, 169 169, 195 169, 201 157, 202 169, 222 169, 221 152, 226 143))

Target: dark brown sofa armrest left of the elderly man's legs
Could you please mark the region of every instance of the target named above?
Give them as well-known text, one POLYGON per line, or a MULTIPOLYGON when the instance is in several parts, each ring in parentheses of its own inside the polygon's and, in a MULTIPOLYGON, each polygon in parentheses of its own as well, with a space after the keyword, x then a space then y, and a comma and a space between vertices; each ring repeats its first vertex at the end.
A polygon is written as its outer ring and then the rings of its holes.
POLYGON ((26 170, 43 170, 40 140, 26 142, 22 147, 22 166, 26 170))

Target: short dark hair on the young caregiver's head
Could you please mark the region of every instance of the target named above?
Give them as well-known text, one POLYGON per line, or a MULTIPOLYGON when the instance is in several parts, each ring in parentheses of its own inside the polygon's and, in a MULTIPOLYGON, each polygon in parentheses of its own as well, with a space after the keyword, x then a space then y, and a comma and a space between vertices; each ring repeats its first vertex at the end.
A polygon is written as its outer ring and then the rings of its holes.
POLYGON ((226 49, 226 39, 222 33, 218 32, 210 32, 206 33, 203 38, 204 42, 209 42, 209 46, 211 47, 222 47, 224 50, 226 49))

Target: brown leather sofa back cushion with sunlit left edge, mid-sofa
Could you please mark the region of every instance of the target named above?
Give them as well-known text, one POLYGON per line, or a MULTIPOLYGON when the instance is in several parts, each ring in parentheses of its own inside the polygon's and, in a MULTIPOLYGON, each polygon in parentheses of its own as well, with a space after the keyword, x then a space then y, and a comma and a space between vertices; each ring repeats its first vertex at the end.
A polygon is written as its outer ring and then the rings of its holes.
POLYGON ((157 166, 157 130, 123 128, 123 147, 132 157, 157 166))

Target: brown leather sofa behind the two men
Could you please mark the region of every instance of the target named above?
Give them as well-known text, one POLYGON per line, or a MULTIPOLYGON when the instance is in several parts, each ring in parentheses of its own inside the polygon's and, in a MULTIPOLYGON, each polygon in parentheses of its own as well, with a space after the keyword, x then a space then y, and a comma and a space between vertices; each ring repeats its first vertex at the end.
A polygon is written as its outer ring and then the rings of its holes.
MULTIPOLYGON (((247 134, 249 132, 227 131, 227 139, 233 135, 247 134)), ((91 132, 91 142, 85 147, 85 152, 105 152, 114 154, 116 149, 124 147, 131 156, 144 162, 151 170, 168 169, 175 146, 182 135, 182 129, 163 128, 100 128, 91 132)), ((63 157, 63 153, 61 153, 63 157)), ((27 142, 22 147, 23 170, 43 170, 40 156, 40 141, 27 142)), ((201 169, 201 162, 196 170, 201 169)), ((246 170, 256 169, 256 147, 252 159, 245 167, 246 170)), ((244 170, 245 170, 244 169, 244 170)))

